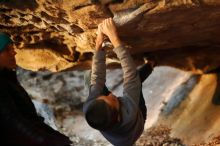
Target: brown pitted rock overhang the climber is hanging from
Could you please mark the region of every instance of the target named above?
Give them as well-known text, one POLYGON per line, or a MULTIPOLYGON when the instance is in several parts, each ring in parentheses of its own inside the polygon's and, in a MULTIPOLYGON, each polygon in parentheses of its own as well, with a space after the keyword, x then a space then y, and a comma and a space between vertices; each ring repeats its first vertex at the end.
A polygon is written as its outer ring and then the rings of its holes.
MULTIPOLYGON (((108 17, 137 64, 150 55, 200 73, 220 66, 219 0, 0 2, 0 31, 15 42, 18 65, 33 71, 90 68, 97 25, 108 17)), ((111 50, 107 56, 109 67, 117 64, 111 50)))

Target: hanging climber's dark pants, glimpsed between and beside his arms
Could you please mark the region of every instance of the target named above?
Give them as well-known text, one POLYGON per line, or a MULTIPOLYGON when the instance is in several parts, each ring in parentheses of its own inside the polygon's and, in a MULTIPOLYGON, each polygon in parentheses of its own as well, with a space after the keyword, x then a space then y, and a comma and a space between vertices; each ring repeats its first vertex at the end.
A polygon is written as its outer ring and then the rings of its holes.
MULTIPOLYGON (((143 83, 145 81, 145 79, 147 79, 147 77, 149 77, 149 75, 151 74, 152 71, 153 71, 153 68, 149 64, 144 64, 143 66, 141 66, 138 69, 141 83, 143 83)), ((104 86, 102 94, 105 96, 108 96, 110 93, 111 92, 108 90, 108 88, 106 86, 104 86)), ((140 93, 140 100, 139 100, 139 108, 142 112, 144 119, 146 120, 147 108, 145 105, 145 100, 144 100, 144 96, 143 96, 143 92, 142 92, 142 86, 141 86, 141 93, 140 93)))

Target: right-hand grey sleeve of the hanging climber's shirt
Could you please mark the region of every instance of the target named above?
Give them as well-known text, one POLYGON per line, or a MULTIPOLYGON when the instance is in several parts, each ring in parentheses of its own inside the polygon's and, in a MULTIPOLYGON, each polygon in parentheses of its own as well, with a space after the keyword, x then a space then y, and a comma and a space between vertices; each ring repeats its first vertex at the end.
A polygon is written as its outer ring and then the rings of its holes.
POLYGON ((136 104, 139 104, 141 81, 134 61, 123 45, 113 51, 117 54, 123 70, 123 96, 131 98, 136 104))

